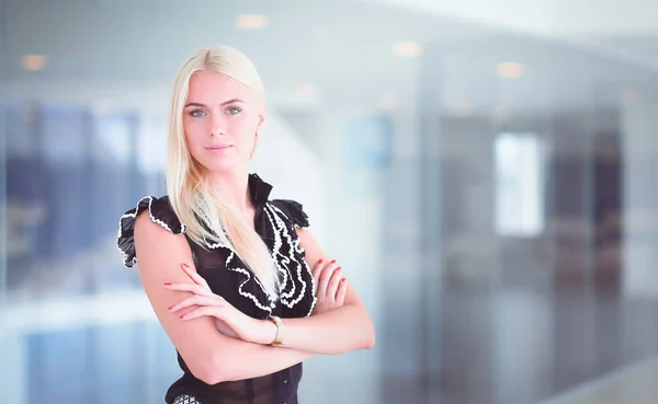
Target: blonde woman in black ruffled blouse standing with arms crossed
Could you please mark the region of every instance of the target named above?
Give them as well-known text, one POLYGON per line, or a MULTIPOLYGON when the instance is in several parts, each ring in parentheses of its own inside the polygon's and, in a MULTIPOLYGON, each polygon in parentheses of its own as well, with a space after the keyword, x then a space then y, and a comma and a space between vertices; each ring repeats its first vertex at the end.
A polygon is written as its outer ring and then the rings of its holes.
POLYGON ((302 205, 270 200, 272 186, 249 174, 265 117, 243 54, 195 51, 173 86, 168 195, 121 218, 124 263, 138 257, 183 370, 167 403, 297 403, 304 359, 374 346, 364 305, 302 205))

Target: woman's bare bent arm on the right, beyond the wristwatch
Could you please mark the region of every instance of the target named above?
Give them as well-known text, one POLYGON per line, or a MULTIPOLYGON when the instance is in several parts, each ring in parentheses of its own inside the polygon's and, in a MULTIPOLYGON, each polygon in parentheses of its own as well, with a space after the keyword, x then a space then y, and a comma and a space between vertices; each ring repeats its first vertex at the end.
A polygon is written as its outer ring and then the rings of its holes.
MULTIPOLYGON (((315 266, 319 259, 329 259, 310 231, 298 229, 297 234, 300 246, 306 251, 306 262, 309 266, 315 266)), ((284 319, 284 345, 290 348, 338 355, 370 349, 375 345, 373 322, 350 285, 341 308, 303 319, 284 319)))

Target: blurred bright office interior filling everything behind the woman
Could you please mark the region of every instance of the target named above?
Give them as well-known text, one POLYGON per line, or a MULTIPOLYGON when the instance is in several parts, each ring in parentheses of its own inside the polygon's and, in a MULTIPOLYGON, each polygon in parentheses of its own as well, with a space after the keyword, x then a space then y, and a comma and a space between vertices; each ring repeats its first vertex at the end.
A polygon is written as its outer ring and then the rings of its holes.
POLYGON ((264 80, 253 171, 377 327, 303 403, 658 400, 658 2, 4 0, 0 27, 1 402, 180 376, 115 236, 214 44, 264 80))

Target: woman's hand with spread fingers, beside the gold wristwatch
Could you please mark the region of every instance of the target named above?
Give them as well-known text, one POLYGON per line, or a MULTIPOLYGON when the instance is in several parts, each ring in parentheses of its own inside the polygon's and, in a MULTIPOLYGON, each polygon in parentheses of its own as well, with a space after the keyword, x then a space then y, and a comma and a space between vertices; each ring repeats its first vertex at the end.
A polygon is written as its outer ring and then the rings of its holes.
POLYGON ((194 284, 164 284, 164 287, 170 290, 188 291, 192 296, 171 305, 168 309, 170 312, 196 305, 196 310, 179 318, 182 321, 190 321, 208 315, 215 319, 216 328, 227 336, 256 344, 270 344, 274 339, 276 328, 272 322, 253 319, 242 313, 223 297, 213 293, 205 279, 195 270, 185 264, 182 265, 182 268, 194 284))

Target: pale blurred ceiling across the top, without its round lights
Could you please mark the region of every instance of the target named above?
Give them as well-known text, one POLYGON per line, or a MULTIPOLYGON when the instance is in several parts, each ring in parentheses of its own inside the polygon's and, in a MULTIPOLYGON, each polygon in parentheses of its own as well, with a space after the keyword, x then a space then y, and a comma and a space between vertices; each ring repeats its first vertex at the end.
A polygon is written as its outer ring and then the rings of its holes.
POLYGON ((292 106, 305 103, 295 93, 304 83, 317 85, 324 105, 374 104, 383 94, 426 85, 420 71, 441 77, 446 104, 474 107, 578 104, 594 93, 614 101, 620 86, 651 81, 646 71, 658 67, 658 2, 575 3, 8 0, 7 76, 13 94, 23 96, 92 84, 166 93, 192 49, 225 43, 253 59, 271 100, 292 106), (237 30, 240 13, 265 13, 269 26, 237 30), (395 41, 426 44, 424 57, 393 56, 395 41), (48 69, 23 71, 25 54, 46 55, 48 69), (509 60, 523 65, 521 79, 496 77, 496 65, 509 60))

